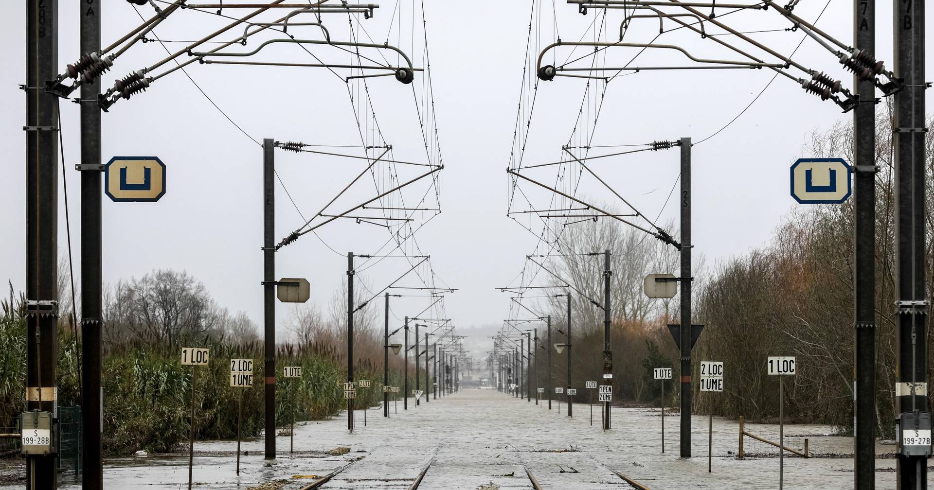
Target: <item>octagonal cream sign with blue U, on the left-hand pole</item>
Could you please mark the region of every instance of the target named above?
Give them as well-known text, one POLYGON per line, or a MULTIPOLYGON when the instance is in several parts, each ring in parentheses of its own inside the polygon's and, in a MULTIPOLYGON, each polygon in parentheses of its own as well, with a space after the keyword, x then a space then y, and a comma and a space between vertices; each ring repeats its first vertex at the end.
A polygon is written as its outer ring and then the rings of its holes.
POLYGON ((114 157, 104 167, 105 192, 117 203, 154 203, 165 194, 158 157, 114 157))

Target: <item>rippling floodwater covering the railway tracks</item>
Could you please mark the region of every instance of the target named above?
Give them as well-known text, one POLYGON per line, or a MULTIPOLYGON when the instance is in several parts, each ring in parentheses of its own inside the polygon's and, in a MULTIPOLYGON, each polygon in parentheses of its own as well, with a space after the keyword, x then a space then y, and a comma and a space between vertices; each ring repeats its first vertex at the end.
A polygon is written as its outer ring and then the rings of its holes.
MULTIPOLYGON (((583 397, 579 397, 583 398, 583 397)), ((236 441, 202 441, 194 445, 194 482, 200 488, 241 489, 267 484, 262 490, 298 490, 334 469, 342 472, 322 489, 407 489, 434 457, 419 489, 510 490, 531 488, 526 469, 545 490, 631 488, 615 469, 652 490, 778 488, 778 449, 746 438, 746 458, 736 458, 739 425, 714 418, 713 471, 707 472, 707 417, 692 418, 693 456, 678 457, 678 416, 666 416, 665 449, 661 453, 661 418, 653 409, 613 409, 613 429, 602 431, 600 411, 589 424, 587 403, 574 405, 574 417, 562 404, 547 410, 494 390, 465 389, 444 398, 383 418, 382 409, 367 412, 363 427, 347 433, 346 414, 333 420, 295 427, 295 454, 289 438, 280 436, 279 457, 263 458, 261 439, 244 441, 240 475, 234 474, 236 441), (345 447, 343 450, 333 451, 345 447), (362 456, 362 457, 361 457, 362 456)), ((393 406, 390 405, 390 410, 393 406)), ((778 426, 746 424, 746 430, 778 440, 778 426)), ((785 445, 795 449, 810 441, 820 457, 785 457, 785 488, 800 490, 853 487, 853 439, 832 436, 833 427, 785 426, 785 445)), ((893 445, 876 448, 876 483, 895 488, 893 445)), ((106 488, 187 488, 188 455, 134 456, 106 461, 106 488)), ((62 488, 78 488, 65 476, 62 488)), ((0 485, 21 488, 22 484, 0 485)))

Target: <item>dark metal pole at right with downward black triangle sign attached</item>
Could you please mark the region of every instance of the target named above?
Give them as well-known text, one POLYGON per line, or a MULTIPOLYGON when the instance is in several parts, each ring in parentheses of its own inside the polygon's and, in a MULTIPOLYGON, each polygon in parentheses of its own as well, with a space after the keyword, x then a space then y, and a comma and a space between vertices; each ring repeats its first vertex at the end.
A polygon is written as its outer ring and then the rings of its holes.
POLYGON ((691 457, 691 138, 681 138, 681 457, 691 457))

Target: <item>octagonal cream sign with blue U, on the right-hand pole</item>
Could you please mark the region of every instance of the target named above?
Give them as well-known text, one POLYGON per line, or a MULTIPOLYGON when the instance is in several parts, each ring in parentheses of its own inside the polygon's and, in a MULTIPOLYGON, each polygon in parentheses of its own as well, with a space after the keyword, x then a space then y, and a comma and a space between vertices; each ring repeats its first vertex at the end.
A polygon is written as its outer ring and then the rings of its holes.
POLYGON ((853 191, 843 159, 798 159, 791 165, 791 197, 802 204, 839 204, 853 191))

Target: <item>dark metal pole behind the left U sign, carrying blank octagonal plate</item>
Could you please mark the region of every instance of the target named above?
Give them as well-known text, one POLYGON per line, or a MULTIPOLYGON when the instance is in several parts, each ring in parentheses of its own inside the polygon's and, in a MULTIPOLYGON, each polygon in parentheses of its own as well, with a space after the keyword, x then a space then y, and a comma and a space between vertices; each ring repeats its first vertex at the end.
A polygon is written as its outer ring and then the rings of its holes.
POLYGON ((262 140, 262 327, 265 385, 265 446, 276 457, 276 141, 262 140))

